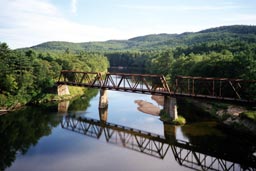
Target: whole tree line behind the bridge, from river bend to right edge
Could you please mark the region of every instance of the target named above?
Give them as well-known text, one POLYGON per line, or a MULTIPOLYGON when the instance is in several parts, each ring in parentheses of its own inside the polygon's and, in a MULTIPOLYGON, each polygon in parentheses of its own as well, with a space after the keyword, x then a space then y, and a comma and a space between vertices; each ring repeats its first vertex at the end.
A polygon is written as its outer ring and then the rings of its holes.
POLYGON ((145 72, 256 80, 256 43, 210 42, 147 52, 105 54, 111 66, 144 67, 145 72))

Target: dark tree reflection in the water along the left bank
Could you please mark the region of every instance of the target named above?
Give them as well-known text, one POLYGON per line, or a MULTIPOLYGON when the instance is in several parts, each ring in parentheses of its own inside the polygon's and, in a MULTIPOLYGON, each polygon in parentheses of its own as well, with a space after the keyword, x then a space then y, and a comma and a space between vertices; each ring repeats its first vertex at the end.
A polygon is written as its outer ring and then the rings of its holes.
MULTIPOLYGON (((55 107, 56 108, 56 107, 55 107)), ((59 124, 56 115, 27 108, 0 117, 0 170, 10 167, 16 154, 25 154, 42 136, 59 124)))

